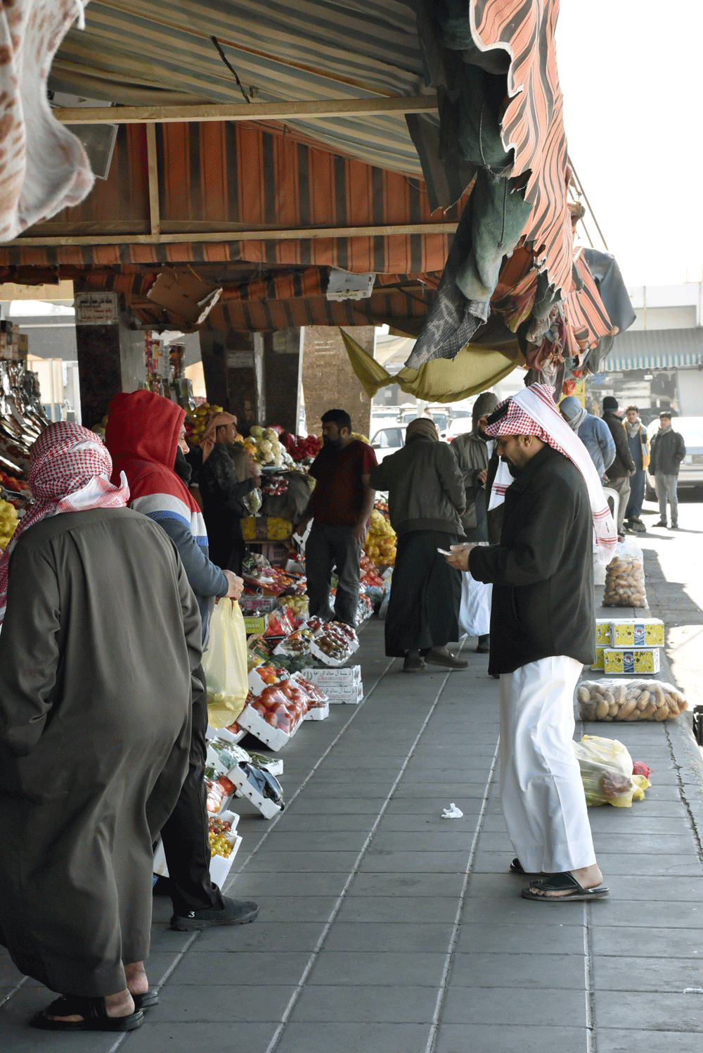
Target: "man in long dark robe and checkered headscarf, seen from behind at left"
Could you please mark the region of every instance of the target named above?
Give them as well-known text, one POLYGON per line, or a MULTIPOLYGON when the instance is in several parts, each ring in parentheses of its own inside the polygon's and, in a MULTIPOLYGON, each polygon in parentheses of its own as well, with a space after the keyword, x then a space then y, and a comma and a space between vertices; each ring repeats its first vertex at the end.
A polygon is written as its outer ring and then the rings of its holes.
POLYGON ((158 1001, 152 846, 188 766, 198 605, 111 472, 94 433, 49 425, 0 560, 0 937, 63 995, 45 1030, 132 1030, 158 1001))

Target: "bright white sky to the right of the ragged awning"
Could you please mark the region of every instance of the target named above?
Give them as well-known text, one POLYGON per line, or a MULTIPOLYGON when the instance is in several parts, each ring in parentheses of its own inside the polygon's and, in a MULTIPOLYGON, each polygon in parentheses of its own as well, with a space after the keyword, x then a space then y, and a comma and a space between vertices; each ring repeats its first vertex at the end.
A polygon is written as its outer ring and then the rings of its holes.
POLYGON ((628 286, 703 280, 702 39, 702 0, 561 0, 569 156, 628 286))

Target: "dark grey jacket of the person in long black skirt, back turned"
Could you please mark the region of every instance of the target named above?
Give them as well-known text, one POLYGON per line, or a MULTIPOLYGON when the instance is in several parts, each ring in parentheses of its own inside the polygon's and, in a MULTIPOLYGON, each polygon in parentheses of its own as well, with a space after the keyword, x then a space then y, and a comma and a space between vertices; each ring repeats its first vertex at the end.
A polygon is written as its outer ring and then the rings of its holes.
POLYGON ((447 443, 421 435, 410 439, 374 469, 369 486, 388 492, 396 534, 415 530, 463 534, 464 483, 447 443))

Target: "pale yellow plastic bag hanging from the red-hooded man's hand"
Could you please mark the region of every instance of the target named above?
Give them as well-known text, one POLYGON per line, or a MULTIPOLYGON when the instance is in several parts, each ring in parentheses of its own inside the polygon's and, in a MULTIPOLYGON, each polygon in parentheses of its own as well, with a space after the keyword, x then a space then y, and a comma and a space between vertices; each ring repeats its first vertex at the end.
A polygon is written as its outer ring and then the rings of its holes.
POLYGON ((236 600, 220 599, 209 620, 209 644, 203 655, 207 714, 213 728, 226 728, 246 704, 248 694, 246 632, 236 600))

